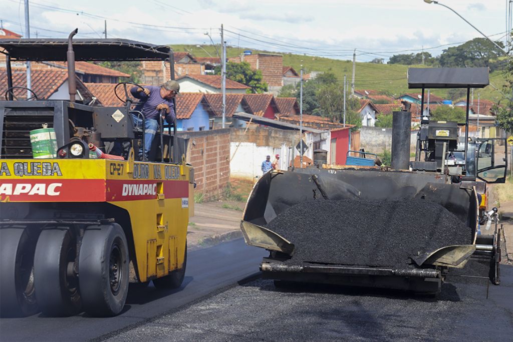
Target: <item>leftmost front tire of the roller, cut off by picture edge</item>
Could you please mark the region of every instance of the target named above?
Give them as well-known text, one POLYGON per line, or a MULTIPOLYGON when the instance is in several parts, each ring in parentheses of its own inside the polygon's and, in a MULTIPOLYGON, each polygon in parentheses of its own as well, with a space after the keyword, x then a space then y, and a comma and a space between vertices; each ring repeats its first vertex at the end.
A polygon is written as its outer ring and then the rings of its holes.
POLYGON ((26 317, 39 311, 35 291, 28 296, 20 291, 27 288, 31 277, 21 272, 19 266, 27 261, 33 270, 36 242, 37 236, 24 228, 0 229, 0 317, 26 317))

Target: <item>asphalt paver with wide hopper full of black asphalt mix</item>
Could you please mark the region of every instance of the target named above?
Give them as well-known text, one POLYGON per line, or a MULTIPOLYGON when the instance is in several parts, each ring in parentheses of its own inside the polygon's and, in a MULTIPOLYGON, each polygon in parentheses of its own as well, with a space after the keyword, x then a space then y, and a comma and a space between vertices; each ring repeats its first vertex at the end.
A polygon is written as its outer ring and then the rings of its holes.
MULTIPOLYGON (((409 87, 423 94, 487 84, 486 68, 409 70, 409 87)), ((499 284, 497 210, 482 208, 486 183, 505 180, 497 139, 468 144, 467 114, 458 144, 457 123, 422 115, 410 162, 409 106, 393 115, 392 169, 324 165, 269 172, 255 184, 241 230, 248 245, 270 251, 264 278, 432 294, 453 274, 499 284), (481 229, 492 217, 495 227, 481 229)))

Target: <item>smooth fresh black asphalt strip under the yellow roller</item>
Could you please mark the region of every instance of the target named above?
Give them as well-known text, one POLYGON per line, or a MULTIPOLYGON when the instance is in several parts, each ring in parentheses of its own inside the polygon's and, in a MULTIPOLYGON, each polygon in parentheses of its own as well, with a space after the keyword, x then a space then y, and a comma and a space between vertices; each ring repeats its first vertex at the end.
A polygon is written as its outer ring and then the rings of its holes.
POLYGON ((172 291, 145 290, 128 294, 124 312, 112 318, 86 314, 55 318, 37 314, 26 318, 0 319, 1 341, 84 341, 141 323, 188 304, 212 291, 235 284, 259 269, 263 249, 248 247, 242 238, 190 252, 182 288, 172 291))

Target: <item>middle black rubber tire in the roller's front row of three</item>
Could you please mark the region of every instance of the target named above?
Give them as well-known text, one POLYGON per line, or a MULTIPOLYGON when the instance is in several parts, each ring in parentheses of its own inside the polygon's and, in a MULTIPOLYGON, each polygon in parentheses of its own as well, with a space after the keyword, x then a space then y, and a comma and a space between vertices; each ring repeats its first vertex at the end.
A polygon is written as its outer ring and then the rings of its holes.
POLYGON ((66 284, 68 262, 74 260, 74 255, 76 240, 68 229, 46 229, 41 232, 35 248, 34 281, 38 304, 45 315, 65 317, 81 311, 78 279, 70 279, 75 282, 72 285, 75 289, 73 293, 66 284))

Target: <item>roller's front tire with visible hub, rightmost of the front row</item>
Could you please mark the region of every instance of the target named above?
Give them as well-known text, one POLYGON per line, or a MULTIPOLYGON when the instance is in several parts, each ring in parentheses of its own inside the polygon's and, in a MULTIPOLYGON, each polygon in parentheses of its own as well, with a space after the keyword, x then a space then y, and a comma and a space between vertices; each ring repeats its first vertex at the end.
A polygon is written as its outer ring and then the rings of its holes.
POLYGON ((84 310, 95 317, 119 314, 128 293, 128 244, 120 225, 89 226, 82 238, 78 279, 84 310), (119 290, 110 286, 110 255, 114 246, 120 252, 119 290))

